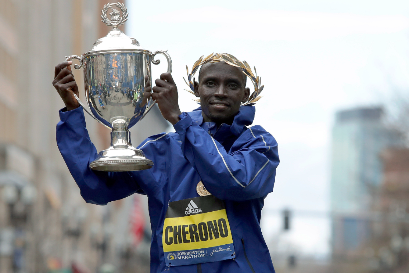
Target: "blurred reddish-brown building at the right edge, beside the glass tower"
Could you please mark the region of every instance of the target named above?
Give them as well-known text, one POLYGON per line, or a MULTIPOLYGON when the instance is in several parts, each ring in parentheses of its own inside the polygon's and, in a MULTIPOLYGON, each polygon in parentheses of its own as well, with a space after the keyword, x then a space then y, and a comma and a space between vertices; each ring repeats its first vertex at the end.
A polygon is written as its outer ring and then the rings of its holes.
POLYGON ((366 244, 371 272, 409 272, 409 149, 385 149, 381 153, 383 178, 378 216, 371 223, 366 244))

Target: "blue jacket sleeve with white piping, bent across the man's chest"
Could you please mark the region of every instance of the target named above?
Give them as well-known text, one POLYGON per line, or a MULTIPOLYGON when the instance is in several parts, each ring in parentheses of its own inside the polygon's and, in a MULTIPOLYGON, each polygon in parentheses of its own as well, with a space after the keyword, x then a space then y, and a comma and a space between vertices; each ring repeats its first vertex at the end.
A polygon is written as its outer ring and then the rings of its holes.
POLYGON ((279 156, 276 140, 260 126, 243 132, 231 154, 191 117, 174 125, 182 152, 214 196, 233 201, 261 198, 273 191, 279 156))

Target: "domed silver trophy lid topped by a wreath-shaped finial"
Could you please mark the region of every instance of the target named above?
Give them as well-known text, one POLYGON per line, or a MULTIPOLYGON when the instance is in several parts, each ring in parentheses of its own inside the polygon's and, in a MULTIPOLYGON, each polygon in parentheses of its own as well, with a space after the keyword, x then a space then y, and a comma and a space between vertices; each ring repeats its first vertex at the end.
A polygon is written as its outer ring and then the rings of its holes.
POLYGON ((127 36, 124 32, 118 29, 119 25, 123 25, 126 20, 128 20, 128 8, 125 7, 124 4, 119 2, 112 4, 108 3, 107 5, 104 5, 101 10, 102 22, 113 28, 107 36, 98 39, 94 45, 92 45, 88 54, 109 50, 145 50, 139 45, 139 42, 135 38, 127 36), (121 10, 122 16, 120 16, 120 11, 114 9, 112 6, 117 6, 121 10), (111 19, 108 19, 107 17, 108 9, 112 10, 109 14, 111 19))

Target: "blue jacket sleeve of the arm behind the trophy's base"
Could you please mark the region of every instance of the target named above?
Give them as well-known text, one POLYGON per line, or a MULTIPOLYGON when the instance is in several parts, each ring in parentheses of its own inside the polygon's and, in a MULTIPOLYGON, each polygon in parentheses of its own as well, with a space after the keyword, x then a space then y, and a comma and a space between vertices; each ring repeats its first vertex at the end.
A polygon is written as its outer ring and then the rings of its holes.
POLYGON ((87 203, 106 205, 135 192, 144 193, 133 179, 132 172, 92 171, 88 166, 97 158, 97 150, 85 128, 81 107, 72 111, 60 111, 56 139, 72 177, 87 203))

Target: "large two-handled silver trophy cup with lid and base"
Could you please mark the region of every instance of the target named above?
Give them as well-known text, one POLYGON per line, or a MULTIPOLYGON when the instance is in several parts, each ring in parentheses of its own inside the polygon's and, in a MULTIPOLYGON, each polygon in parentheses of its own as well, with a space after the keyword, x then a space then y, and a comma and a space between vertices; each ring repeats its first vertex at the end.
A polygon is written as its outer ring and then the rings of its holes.
POLYGON ((66 61, 78 59, 84 66, 85 107, 74 94, 83 109, 97 122, 112 129, 111 146, 101 151, 90 168, 98 171, 136 171, 149 169, 153 162, 144 153, 132 146, 128 128, 141 120, 155 101, 144 97, 144 77, 151 77, 151 63, 156 54, 163 54, 168 61, 168 72, 172 72, 171 57, 166 51, 145 50, 134 38, 118 29, 128 20, 127 8, 121 3, 108 3, 102 9, 102 21, 112 30, 107 36, 94 43, 92 49, 80 56, 68 56, 66 61), (117 7, 115 9, 113 7, 117 7), (110 19, 107 17, 111 9, 110 19), (122 13, 122 15, 121 15, 122 13))

